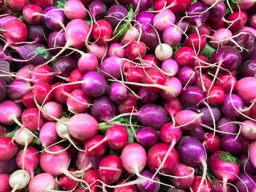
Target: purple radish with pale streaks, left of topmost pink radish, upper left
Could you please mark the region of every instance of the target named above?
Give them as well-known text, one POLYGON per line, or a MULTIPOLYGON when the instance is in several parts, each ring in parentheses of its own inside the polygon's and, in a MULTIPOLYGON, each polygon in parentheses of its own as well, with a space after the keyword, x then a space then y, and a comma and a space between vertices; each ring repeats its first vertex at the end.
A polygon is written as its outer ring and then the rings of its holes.
POLYGON ((62 10, 54 6, 47 7, 44 9, 43 15, 45 16, 42 18, 42 20, 47 28, 50 28, 50 30, 61 29, 61 24, 63 25, 65 20, 65 15, 62 10))

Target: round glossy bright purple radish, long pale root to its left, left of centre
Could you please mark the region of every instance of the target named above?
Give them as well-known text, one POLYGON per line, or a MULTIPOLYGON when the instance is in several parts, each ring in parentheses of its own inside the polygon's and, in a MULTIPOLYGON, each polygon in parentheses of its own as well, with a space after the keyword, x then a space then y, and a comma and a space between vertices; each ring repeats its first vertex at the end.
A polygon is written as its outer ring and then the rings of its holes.
POLYGON ((107 90, 107 81, 98 72, 88 72, 82 78, 82 90, 86 96, 99 97, 107 90))

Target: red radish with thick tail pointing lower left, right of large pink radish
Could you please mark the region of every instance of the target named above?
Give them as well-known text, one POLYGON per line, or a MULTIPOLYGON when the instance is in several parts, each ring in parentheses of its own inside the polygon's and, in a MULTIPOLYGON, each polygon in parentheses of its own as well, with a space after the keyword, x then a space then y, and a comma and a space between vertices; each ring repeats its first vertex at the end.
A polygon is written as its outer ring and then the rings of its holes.
POLYGON ((97 145, 90 147, 88 150, 92 151, 94 148, 102 145, 102 143, 108 142, 113 150, 120 150, 127 145, 128 142, 128 132, 124 126, 112 126, 106 131, 104 139, 102 139, 97 145))

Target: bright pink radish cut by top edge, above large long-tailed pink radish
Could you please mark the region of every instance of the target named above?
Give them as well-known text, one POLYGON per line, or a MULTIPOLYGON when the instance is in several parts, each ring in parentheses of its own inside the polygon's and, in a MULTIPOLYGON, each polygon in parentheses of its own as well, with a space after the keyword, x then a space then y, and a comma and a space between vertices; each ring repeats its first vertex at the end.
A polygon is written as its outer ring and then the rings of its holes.
POLYGON ((64 13, 69 20, 85 19, 86 7, 79 0, 69 0, 64 4, 64 13))

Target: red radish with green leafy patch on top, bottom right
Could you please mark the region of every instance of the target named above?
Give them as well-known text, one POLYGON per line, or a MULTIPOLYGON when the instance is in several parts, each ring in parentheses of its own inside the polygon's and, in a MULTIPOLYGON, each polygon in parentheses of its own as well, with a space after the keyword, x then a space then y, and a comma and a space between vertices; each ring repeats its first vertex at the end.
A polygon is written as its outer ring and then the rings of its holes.
POLYGON ((217 179, 223 181, 223 190, 227 187, 227 182, 236 180, 239 174, 239 161, 228 152, 217 151, 213 153, 209 161, 211 172, 217 179))

